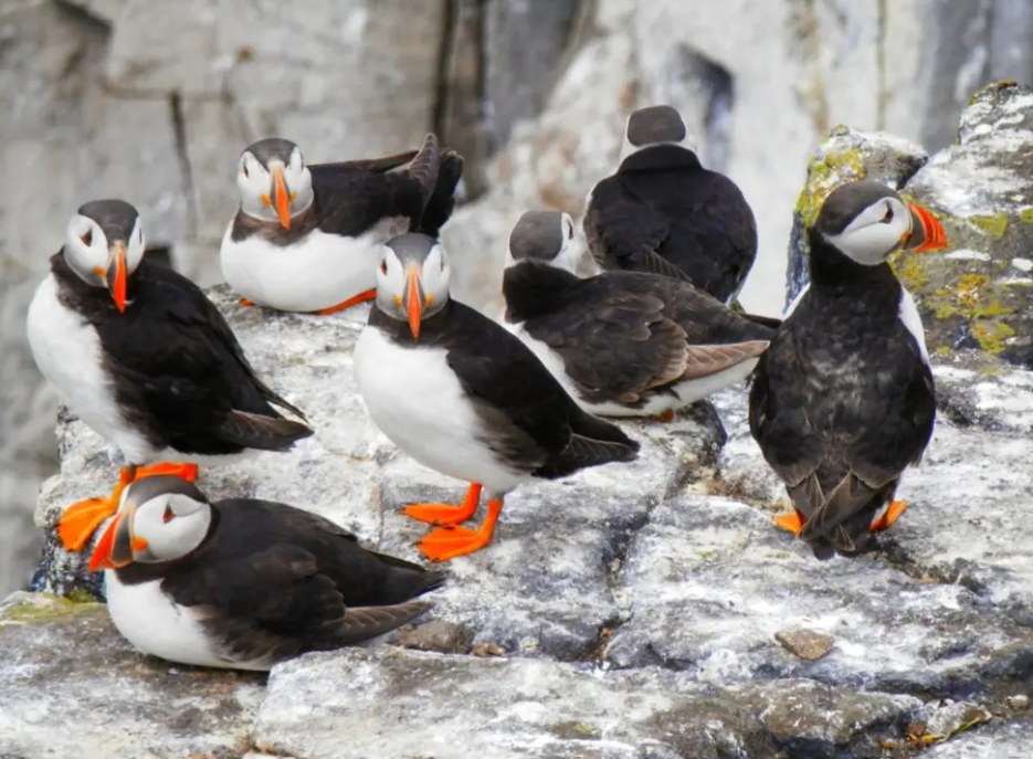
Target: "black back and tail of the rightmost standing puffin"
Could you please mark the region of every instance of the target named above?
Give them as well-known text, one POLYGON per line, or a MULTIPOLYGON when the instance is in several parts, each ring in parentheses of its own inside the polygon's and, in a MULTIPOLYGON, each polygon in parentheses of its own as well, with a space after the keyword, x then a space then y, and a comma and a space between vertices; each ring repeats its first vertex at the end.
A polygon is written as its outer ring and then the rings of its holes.
POLYGON ((839 527, 858 548, 867 541, 872 517, 929 443, 936 399, 932 373, 898 317, 902 288, 889 266, 861 266, 818 238, 811 251, 818 278, 757 366, 749 421, 813 520, 801 537, 828 558, 839 527), (848 475, 832 507, 815 515, 821 494, 829 498, 848 475), (851 514, 842 510, 848 504, 851 514))

